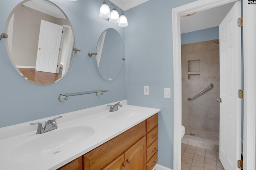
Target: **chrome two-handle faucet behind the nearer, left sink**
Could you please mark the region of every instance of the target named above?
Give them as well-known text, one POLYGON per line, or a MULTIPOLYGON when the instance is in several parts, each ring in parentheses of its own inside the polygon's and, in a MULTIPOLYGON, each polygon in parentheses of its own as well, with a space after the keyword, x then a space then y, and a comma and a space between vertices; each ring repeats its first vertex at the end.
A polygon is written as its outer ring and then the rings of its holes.
POLYGON ((42 124, 40 122, 30 123, 30 125, 38 125, 36 134, 41 134, 44 132, 48 132, 48 131, 57 129, 58 127, 57 127, 56 119, 59 119, 61 117, 62 116, 59 116, 59 117, 55 117, 52 120, 48 120, 47 122, 45 122, 44 128, 42 127, 42 124))

